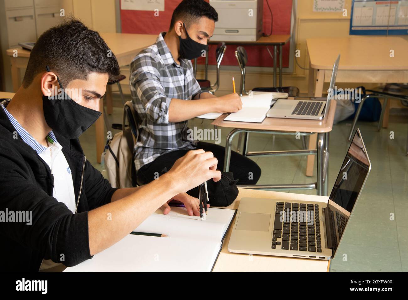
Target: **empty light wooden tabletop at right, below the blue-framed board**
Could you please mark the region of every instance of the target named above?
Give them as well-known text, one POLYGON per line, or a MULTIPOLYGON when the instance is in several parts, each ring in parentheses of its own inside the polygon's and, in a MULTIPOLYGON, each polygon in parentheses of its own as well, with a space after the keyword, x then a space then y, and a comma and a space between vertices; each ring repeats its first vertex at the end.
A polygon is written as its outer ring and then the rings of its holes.
POLYGON ((339 53, 339 70, 407 70, 408 42, 395 36, 308 38, 306 45, 313 69, 332 70, 339 53), (390 57, 390 50, 394 57, 390 57))

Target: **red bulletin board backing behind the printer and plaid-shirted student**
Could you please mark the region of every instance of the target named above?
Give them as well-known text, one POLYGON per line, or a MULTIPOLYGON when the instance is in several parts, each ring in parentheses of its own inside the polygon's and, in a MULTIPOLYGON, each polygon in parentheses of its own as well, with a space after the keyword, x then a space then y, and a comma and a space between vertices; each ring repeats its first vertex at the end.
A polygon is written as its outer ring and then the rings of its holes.
MULTIPOLYGON (((267 0, 264 0, 264 33, 271 32, 271 13, 267 0)), ((292 15, 292 0, 268 0, 273 13, 273 34, 290 34, 290 18, 292 15)), ((154 16, 154 11, 120 10, 122 33, 157 34, 168 31, 171 16, 181 0, 165 0, 164 11, 159 11, 159 16, 154 16)), ((207 1, 208 2, 208 1, 207 1)), ((208 63, 215 64, 216 45, 210 45, 208 63)), ((244 46, 248 52, 248 66, 272 67, 273 59, 265 46, 244 46)), ((227 45, 222 60, 222 65, 237 66, 235 58, 236 45, 227 45)), ((273 54, 273 47, 269 47, 273 54)), ((289 43, 283 47, 283 67, 289 65, 289 43)), ((279 60, 278 60, 279 61, 279 60)), ((199 58, 198 63, 204 64, 205 59, 199 58)), ((279 62, 278 62, 279 63, 279 62)))

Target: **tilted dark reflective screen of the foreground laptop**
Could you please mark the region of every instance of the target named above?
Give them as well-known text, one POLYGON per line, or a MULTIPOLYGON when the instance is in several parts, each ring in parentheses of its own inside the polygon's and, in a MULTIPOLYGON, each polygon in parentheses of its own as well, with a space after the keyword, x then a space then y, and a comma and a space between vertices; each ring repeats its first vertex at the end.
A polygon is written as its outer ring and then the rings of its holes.
MULTIPOLYGON (((335 222, 335 235, 336 240, 339 241, 338 244, 344 235, 348 219, 364 187, 370 167, 366 147, 361 138, 361 133, 357 129, 329 198, 329 200, 335 202, 333 204, 333 202, 329 201, 329 204, 332 203, 330 205, 331 209, 335 208, 334 212, 332 210, 332 222, 335 222)), ((334 245, 333 256, 336 250, 337 246, 334 245)))

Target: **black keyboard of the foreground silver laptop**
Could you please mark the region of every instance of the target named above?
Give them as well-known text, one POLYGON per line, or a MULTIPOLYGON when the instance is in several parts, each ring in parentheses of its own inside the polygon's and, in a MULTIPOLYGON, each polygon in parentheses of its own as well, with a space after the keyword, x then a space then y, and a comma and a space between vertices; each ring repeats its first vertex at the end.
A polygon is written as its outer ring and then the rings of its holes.
POLYGON ((288 251, 322 252, 318 204, 276 202, 272 249, 279 247, 288 251))

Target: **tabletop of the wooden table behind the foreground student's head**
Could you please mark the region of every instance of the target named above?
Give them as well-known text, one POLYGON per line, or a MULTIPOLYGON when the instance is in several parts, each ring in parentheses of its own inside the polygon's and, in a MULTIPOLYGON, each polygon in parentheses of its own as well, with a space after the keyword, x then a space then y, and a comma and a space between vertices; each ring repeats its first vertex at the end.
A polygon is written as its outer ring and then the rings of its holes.
MULTIPOLYGON (((122 56, 135 55, 135 52, 154 44, 158 34, 133 34, 133 33, 100 33, 106 44, 110 47, 116 58, 122 56)), ((8 49, 7 55, 13 56, 14 49, 8 49)), ((25 49, 18 49, 18 56, 29 57, 30 52, 25 49)), ((130 63, 130 61, 128 62, 130 63)))

